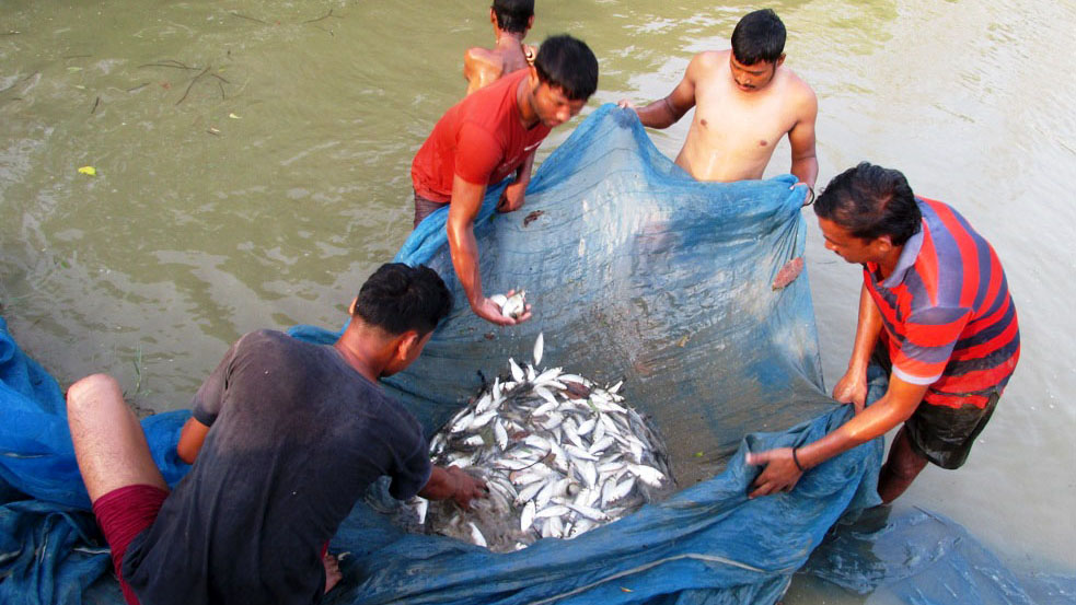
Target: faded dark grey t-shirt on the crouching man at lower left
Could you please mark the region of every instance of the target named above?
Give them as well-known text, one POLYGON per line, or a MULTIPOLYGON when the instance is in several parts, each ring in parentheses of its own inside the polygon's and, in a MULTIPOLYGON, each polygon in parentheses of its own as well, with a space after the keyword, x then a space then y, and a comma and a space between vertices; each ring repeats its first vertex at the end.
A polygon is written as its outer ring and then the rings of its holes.
POLYGON ((429 479, 421 426, 333 347, 278 331, 232 346, 194 398, 211 429, 124 558, 144 605, 316 603, 322 546, 382 475, 429 479))

